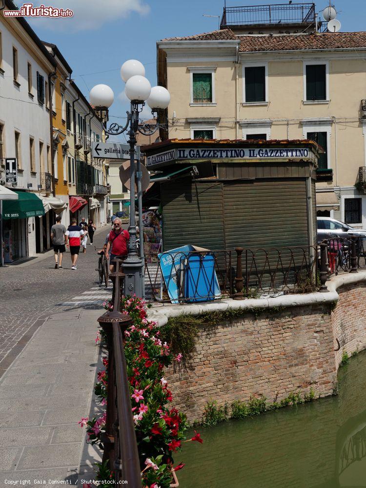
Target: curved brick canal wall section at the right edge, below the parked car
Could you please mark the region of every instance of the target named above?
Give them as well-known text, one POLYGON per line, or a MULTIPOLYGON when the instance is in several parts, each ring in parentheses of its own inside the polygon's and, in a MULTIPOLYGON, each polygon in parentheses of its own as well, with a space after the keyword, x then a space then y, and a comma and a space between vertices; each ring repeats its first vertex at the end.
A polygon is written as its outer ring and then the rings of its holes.
POLYGON ((339 288, 339 300, 332 312, 335 348, 336 339, 341 349, 335 353, 337 367, 343 351, 350 356, 366 348, 366 284, 357 283, 339 288))

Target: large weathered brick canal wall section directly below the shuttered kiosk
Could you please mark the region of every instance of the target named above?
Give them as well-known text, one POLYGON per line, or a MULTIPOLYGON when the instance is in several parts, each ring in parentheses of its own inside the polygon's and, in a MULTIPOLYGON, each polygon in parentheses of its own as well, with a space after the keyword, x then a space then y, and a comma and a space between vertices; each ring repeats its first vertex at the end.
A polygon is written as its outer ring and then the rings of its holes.
POLYGON ((328 312, 328 305, 291 307, 203 328, 187 367, 167 371, 175 405, 195 420, 210 400, 280 401, 311 386, 331 394, 336 367, 328 312))

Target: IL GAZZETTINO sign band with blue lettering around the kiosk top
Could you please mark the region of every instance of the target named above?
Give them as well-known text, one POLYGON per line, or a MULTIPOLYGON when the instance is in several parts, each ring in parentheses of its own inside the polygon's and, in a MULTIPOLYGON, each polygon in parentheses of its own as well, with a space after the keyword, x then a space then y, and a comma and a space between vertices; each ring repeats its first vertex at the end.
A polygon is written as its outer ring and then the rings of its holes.
POLYGON ((146 166, 168 163, 176 160, 219 160, 219 159, 278 159, 310 158, 307 147, 250 147, 245 149, 214 147, 174 148, 147 157, 146 166))

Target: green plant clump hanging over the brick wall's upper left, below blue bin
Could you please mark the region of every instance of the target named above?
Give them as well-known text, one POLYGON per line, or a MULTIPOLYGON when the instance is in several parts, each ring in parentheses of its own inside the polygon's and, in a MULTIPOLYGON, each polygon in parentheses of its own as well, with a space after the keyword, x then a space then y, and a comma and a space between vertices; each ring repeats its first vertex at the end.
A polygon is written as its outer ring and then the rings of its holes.
POLYGON ((187 358, 195 351, 196 338, 201 320, 192 315, 171 317, 160 328, 160 338, 170 346, 173 354, 183 354, 187 358))

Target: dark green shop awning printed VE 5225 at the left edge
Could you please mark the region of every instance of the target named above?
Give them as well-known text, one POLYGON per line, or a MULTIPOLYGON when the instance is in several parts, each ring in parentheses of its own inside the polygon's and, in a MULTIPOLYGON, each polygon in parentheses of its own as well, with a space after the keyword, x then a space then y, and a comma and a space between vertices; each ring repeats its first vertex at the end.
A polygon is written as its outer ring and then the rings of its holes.
POLYGON ((44 208, 41 199, 28 191, 17 191, 18 200, 5 200, 2 203, 2 218, 27 219, 28 217, 39 217, 44 215, 44 208))

